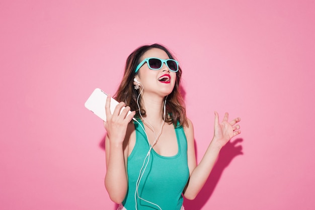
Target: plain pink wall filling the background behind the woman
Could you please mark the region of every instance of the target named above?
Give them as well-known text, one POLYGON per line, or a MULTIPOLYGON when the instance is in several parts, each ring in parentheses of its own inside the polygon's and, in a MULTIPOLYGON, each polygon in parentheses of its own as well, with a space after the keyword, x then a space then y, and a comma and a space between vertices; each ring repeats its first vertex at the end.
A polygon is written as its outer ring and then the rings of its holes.
POLYGON ((162 43, 183 68, 197 160, 221 119, 242 134, 187 210, 314 209, 314 1, 1 1, 2 209, 115 209, 105 130, 84 107, 162 43), (243 154, 241 154, 241 152, 243 154))

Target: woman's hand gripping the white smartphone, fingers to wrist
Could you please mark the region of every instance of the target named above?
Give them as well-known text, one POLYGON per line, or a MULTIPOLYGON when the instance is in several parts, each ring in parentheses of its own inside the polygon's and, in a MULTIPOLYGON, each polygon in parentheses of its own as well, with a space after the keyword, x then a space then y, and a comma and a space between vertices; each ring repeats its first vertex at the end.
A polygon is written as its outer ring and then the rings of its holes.
POLYGON ((130 107, 125 107, 126 104, 124 102, 120 102, 112 114, 110 111, 110 103, 111 96, 107 95, 105 103, 106 122, 104 121, 104 127, 112 143, 116 142, 118 144, 122 144, 126 136, 127 126, 134 117, 135 111, 128 115, 130 107), (125 109, 121 111, 123 107, 125 107, 125 109))

